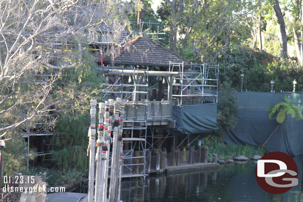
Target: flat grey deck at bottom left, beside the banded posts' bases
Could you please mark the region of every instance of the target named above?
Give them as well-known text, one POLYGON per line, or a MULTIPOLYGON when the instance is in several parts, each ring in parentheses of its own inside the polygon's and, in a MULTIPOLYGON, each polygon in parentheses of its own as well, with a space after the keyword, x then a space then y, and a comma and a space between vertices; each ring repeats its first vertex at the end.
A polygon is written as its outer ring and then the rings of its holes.
POLYGON ((45 202, 80 202, 86 196, 83 193, 57 192, 46 195, 45 202))

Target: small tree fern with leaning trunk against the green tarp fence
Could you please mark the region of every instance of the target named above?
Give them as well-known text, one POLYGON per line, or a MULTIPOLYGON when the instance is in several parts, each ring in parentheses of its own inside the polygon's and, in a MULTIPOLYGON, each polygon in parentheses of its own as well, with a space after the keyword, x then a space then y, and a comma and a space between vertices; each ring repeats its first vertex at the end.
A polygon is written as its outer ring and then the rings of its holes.
POLYGON ((274 135, 274 133, 277 131, 277 129, 281 126, 281 124, 284 122, 286 115, 290 114, 292 118, 296 118, 298 121, 303 119, 301 110, 302 108, 294 105, 291 103, 292 100, 288 99, 287 96, 284 96, 284 101, 285 102, 278 102, 275 105, 269 106, 268 107, 268 118, 272 119, 273 116, 277 114, 276 121, 278 122, 277 127, 275 130, 268 136, 268 138, 264 141, 262 145, 265 145, 268 140, 274 135))

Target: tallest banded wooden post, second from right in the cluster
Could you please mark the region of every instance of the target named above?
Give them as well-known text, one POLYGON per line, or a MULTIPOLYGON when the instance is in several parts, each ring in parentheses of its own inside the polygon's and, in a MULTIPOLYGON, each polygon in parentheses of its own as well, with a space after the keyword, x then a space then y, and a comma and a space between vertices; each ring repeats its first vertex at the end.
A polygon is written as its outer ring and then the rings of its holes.
POLYGON ((120 145, 118 144, 118 130, 119 130, 119 115, 120 115, 120 107, 121 107, 121 99, 117 98, 117 101, 114 102, 114 133, 113 133, 113 147, 112 147, 112 163, 110 170, 110 185, 109 185, 109 202, 116 202, 117 198, 115 198, 115 189, 116 180, 118 179, 117 164, 119 163, 120 157, 120 145), (118 148, 119 147, 119 148, 118 148))

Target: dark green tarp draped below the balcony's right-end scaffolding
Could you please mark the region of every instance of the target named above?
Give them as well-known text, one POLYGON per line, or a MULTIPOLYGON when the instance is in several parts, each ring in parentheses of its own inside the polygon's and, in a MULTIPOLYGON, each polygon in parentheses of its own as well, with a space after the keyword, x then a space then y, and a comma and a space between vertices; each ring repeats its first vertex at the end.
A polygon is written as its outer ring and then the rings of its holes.
POLYGON ((217 103, 173 106, 176 120, 173 134, 193 135, 212 132, 217 127, 217 103))

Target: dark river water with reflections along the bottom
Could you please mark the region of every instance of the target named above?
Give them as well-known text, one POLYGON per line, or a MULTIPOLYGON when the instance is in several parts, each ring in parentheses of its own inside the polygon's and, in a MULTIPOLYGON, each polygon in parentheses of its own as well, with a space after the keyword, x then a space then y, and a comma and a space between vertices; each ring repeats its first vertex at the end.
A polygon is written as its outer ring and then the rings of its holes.
POLYGON ((217 171, 182 173, 123 181, 123 202, 303 202, 302 156, 294 158, 299 185, 281 195, 263 191, 255 180, 253 161, 217 171))

